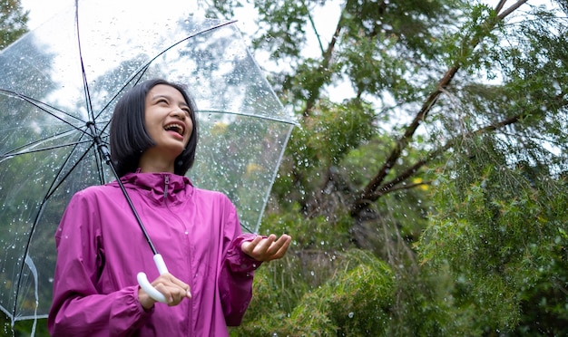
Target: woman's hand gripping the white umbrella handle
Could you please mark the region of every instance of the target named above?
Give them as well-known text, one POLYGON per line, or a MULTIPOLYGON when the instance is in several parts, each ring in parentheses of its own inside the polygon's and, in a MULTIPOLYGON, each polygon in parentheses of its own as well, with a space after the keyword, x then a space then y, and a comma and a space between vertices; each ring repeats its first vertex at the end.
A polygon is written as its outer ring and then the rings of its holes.
MULTIPOLYGON (((152 281, 152 286, 166 297, 166 302, 170 306, 178 305, 184 298, 191 298, 190 286, 170 273, 158 276, 152 281)), ((145 310, 149 310, 156 303, 142 288, 138 288, 138 301, 145 310)))

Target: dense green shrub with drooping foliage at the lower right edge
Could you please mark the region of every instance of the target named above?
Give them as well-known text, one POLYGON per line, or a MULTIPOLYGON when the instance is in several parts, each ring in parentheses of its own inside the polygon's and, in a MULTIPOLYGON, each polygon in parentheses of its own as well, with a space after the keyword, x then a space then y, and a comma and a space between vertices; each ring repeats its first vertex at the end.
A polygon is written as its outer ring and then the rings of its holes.
POLYGON ((473 312, 486 332, 564 335, 564 178, 524 160, 508 164, 491 138, 465 143, 438 176, 438 209, 420 245, 426 263, 449 266, 456 309, 473 312))

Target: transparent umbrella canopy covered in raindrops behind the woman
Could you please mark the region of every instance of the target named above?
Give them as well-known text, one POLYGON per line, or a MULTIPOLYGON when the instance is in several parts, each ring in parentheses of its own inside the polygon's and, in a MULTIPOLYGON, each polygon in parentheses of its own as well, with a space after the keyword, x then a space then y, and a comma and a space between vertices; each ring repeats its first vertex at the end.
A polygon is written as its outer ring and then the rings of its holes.
POLYGON ((122 92, 156 77, 196 102, 191 181, 227 194, 244 230, 258 230, 294 120, 234 22, 167 0, 75 3, 0 53, 0 308, 13 322, 46 317, 64 207, 113 179, 93 138, 108 143, 122 92))

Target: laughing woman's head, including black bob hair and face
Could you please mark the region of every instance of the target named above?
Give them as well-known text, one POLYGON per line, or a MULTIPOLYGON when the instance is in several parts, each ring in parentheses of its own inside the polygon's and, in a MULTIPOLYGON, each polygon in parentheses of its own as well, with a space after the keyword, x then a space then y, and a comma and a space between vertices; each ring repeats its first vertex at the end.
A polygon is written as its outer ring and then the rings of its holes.
MULTIPOLYGON (((168 167, 166 171, 184 175, 195 159, 198 139, 195 111, 190 96, 178 84, 153 80, 135 86, 117 103, 111 123, 111 158, 119 177, 139 168, 142 152, 148 152, 144 156, 148 164, 153 156, 165 155, 161 152, 169 149, 168 144, 173 146, 173 152, 168 155, 175 156, 167 164, 164 161, 164 165, 173 166, 173 170, 168 167), (165 138, 164 127, 174 121, 181 123, 184 129, 185 144, 173 141, 171 135, 165 138), (168 141, 162 144, 165 140, 168 141)), ((142 171, 148 169, 142 168, 142 171)))

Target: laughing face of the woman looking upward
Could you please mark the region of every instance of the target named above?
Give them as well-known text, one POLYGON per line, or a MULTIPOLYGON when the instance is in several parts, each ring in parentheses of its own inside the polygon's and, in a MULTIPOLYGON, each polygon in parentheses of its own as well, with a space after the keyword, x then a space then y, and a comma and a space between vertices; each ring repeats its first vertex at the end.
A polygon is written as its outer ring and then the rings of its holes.
POLYGON ((158 84, 146 95, 145 126, 162 155, 173 159, 181 154, 190 141, 193 123, 191 110, 177 89, 158 84))

